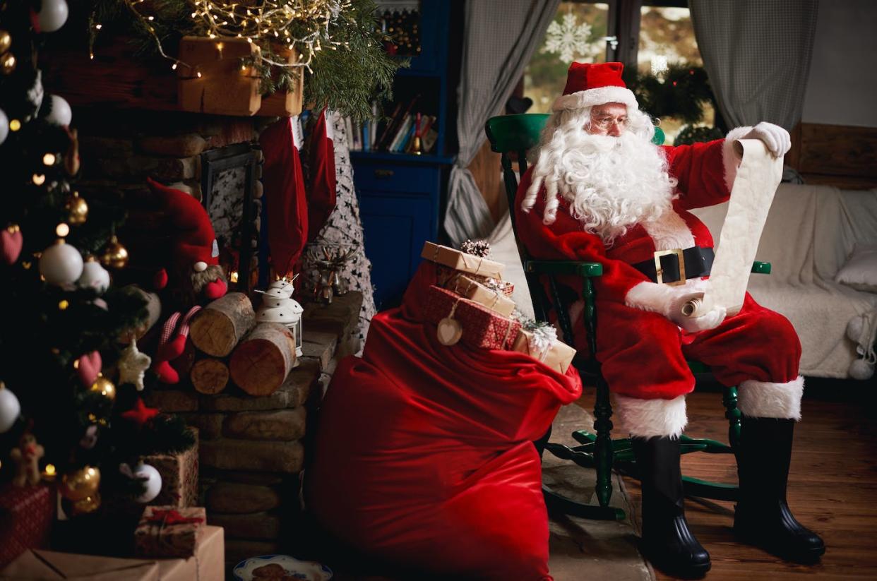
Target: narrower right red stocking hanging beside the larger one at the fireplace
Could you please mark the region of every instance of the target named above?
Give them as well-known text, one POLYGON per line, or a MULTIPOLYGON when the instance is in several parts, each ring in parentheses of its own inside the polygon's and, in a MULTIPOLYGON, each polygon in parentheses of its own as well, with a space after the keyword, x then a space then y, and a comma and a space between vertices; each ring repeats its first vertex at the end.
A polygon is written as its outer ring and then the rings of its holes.
POLYGON ((313 242, 332 210, 335 209, 335 145, 332 143, 332 122, 324 107, 310 133, 308 169, 308 242, 313 242))

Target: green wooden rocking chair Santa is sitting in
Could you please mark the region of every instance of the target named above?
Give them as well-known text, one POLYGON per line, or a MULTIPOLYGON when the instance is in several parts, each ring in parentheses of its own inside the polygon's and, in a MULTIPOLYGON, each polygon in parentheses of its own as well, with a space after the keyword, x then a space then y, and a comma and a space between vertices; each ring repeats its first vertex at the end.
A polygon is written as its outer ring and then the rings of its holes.
MULTIPOLYGON (((491 117, 485 125, 491 149, 502 154, 503 180, 506 195, 509 198, 510 218, 512 230, 517 238, 517 224, 515 223, 515 195, 517 184, 527 171, 526 153, 538 143, 539 132, 545 126, 549 115, 547 114, 520 114, 491 117), (510 154, 517 155, 518 174, 512 167, 510 154)), ((663 143, 663 133, 658 130, 656 142, 663 143)), ((526 249, 518 243, 518 252, 521 256, 522 266, 527 284, 530 287, 533 310, 536 318, 548 321, 548 313, 553 311, 557 317, 560 331, 567 344, 573 343, 573 326, 567 314, 567 308, 557 308, 563 305, 560 298, 560 287, 556 281, 557 276, 581 276, 583 280, 582 299, 585 303, 584 323, 588 333, 588 346, 590 353, 576 354, 573 365, 580 373, 592 379, 596 385, 596 403, 594 407, 595 430, 592 434, 587 430, 573 432, 574 439, 579 442, 577 446, 566 446, 559 443, 551 443, 551 430, 536 445, 540 452, 548 450, 554 456, 572 460, 575 464, 584 468, 596 469, 595 492, 598 505, 585 505, 580 502, 567 499, 553 492, 543 485, 545 504, 549 510, 559 511, 564 514, 572 514, 589 519, 620 520, 624 519, 624 511, 610 507, 609 502, 612 494, 611 471, 616 468, 633 477, 637 476, 631 441, 629 438, 612 440, 610 432, 612 422, 612 407, 610 404, 609 386, 600 372, 600 362, 596 360, 595 329, 596 317, 594 285, 592 279, 602 274, 602 265, 594 262, 579 262, 574 260, 534 260, 527 256, 526 249), (548 294, 545 293, 542 280, 547 281, 548 294)), ((752 266, 753 273, 770 273, 770 265, 764 262, 756 262, 752 266)), ((693 372, 706 372, 705 365, 697 362, 688 364, 693 372)), ((737 388, 725 387, 722 402, 725 407, 725 417, 730 425, 728 438, 731 445, 708 439, 695 439, 681 436, 681 451, 683 454, 703 451, 714 454, 731 454, 734 452, 740 436, 740 416, 737 408, 737 388)), ((738 493, 737 485, 708 482, 698 478, 682 477, 687 496, 697 496, 716 500, 736 500, 738 493)))

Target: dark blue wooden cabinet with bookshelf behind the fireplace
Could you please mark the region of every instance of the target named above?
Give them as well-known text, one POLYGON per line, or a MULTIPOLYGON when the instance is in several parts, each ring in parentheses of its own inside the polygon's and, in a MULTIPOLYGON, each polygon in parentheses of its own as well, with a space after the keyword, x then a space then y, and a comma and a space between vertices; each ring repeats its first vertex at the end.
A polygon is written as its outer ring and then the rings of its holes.
MULTIPOLYGON (((379 3, 380 4, 380 3, 379 3)), ((421 0, 421 53, 396 74, 395 93, 406 102, 420 93, 437 116, 434 152, 420 156, 390 152, 350 152, 353 183, 360 201, 366 256, 372 263, 374 301, 379 310, 402 299, 420 264, 424 240, 439 240, 439 208, 453 152, 449 119, 448 42, 452 10, 459 2, 421 0)), ((459 63, 453 65, 459 67, 459 63)), ((451 89, 451 90, 449 90, 451 89)))

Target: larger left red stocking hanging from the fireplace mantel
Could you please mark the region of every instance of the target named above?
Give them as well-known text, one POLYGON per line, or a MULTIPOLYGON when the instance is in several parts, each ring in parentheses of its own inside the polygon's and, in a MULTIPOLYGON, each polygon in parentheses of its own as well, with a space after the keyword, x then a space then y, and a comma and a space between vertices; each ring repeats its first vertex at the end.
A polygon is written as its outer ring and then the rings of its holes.
POLYGON ((308 202, 302 161, 298 156, 302 142, 297 116, 282 118, 268 126, 259 138, 265 154, 262 184, 267 206, 268 247, 279 275, 292 271, 308 237, 308 202))

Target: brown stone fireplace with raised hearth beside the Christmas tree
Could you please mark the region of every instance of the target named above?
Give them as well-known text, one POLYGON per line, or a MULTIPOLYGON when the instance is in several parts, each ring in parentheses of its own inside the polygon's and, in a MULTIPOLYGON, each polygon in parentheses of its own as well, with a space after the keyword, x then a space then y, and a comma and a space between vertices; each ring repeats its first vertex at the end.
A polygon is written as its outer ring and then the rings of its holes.
MULTIPOLYGON (((205 194, 203 153, 254 142, 265 121, 75 108, 82 159, 76 188, 87 200, 121 192, 127 203, 149 195, 146 177, 152 177, 200 201, 205 194)), ((239 179, 232 172, 220 181, 239 179)), ((260 190, 259 182, 256 188, 260 190)), ((260 191, 254 197, 259 195, 260 191)), ((120 241, 125 244, 124 237, 120 241)), ((258 296, 251 296, 257 307, 258 296)), ((207 507, 210 524, 225 528, 227 564, 293 549, 289 539, 301 514, 299 475, 309 454, 308 418, 339 358, 360 348, 361 302, 360 293, 350 292, 335 297, 331 305, 304 305, 303 357, 271 395, 253 397, 231 384, 222 393, 205 395, 197 393, 186 376, 176 386, 147 390, 147 405, 181 414, 199 429, 198 505, 207 507)))

